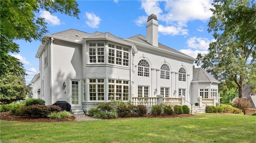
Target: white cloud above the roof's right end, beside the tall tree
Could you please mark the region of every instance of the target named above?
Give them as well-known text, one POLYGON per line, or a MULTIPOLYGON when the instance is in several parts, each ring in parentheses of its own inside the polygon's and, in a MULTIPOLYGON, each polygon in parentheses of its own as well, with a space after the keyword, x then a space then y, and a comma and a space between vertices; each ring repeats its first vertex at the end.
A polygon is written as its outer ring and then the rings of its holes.
POLYGON ((215 40, 209 40, 207 38, 202 37, 190 37, 186 43, 188 44, 187 47, 193 49, 200 49, 200 50, 207 50, 209 48, 209 44, 214 42, 215 40))

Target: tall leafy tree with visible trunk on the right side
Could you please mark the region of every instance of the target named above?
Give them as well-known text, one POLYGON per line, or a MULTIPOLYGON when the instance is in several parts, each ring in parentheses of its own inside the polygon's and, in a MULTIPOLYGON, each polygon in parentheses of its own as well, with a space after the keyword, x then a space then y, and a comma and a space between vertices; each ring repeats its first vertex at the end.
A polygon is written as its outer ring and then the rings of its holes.
POLYGON ((249 0, 214 0, 212 5, 208 32, 216 41, 196 63, 219 81, 233 80, 242 98, 244 82, 256 78, 256 5, 249 0))

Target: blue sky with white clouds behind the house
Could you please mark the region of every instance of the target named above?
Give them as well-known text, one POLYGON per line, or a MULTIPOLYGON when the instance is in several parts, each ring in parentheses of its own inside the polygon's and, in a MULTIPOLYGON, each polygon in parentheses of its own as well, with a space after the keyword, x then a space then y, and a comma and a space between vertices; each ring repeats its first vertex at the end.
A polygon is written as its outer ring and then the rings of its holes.
MULTIPOLYGON (((209 43, 214 41, 208 33, 212 1, 164 0, 164 1, 77 1, 81 13, 79 20, 60 13, 50 14, 41 10, 36 14, 48 22, 50 33, 77 29, 87 33, 109 32, 128 38, 137 34, 146 36, 146 21, 150 14, 158 19, 158 41, 168 47, 196 58, 197 53, 208 53, 209 43)), ((39 73, 39 59, 35 57, 40 41, 32 43, 18 40, 19 53, 10 53, 20 59, 26 69, 26 83, 39 73)))

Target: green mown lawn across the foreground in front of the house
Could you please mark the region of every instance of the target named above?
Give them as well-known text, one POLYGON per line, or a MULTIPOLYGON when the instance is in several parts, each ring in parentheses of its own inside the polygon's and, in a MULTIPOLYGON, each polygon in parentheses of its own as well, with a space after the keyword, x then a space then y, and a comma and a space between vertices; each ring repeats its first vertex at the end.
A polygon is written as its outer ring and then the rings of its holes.
POLYGON ((188 118, 120 118, 28 123, 0 121, 1 141, 16 143, 254 143, 256 116, 196 114, 188 118))

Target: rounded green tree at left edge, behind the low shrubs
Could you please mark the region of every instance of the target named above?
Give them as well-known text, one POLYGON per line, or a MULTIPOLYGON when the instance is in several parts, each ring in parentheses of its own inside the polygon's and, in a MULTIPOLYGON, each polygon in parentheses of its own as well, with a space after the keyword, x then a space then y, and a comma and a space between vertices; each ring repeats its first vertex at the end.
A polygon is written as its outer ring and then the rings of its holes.
POLYGON ((25 78, 15 74, 6 74, 0 78, 0 100, 2 104, 9 104, 16 100, 23 100, 29 92, 25 78))

